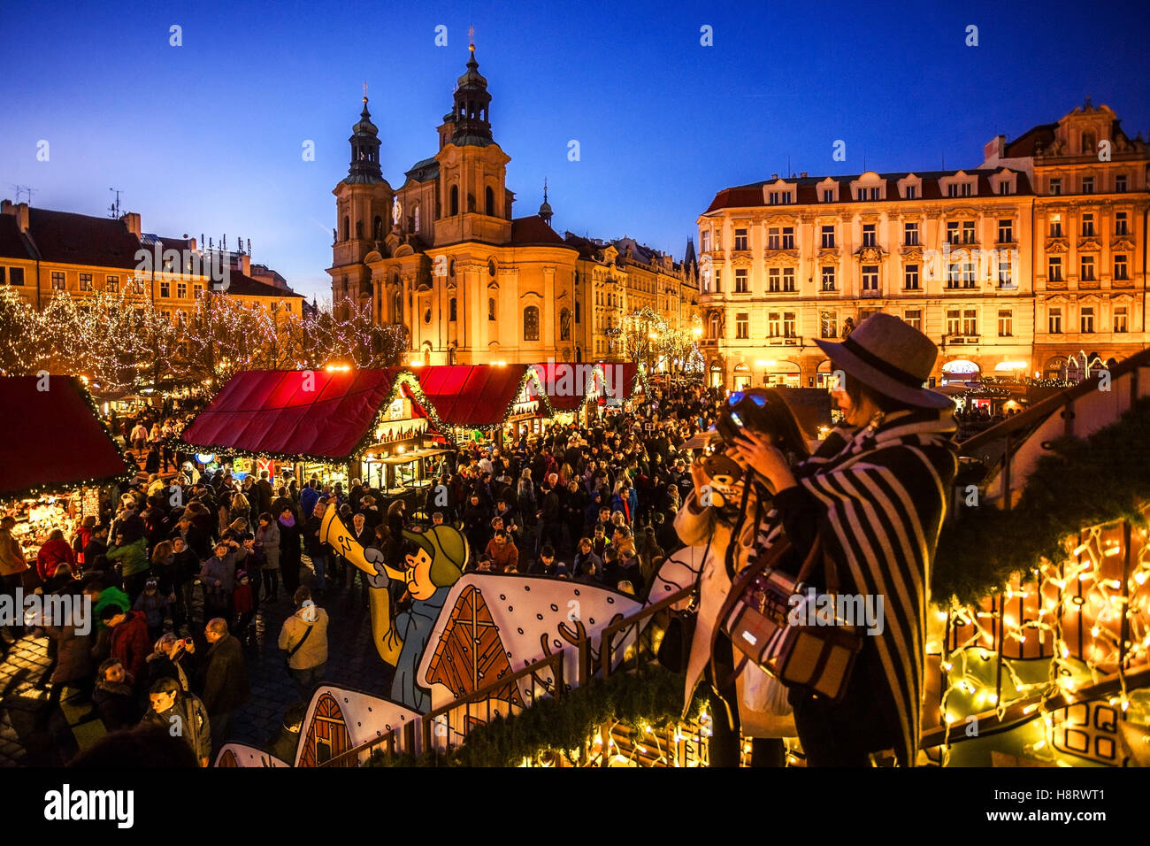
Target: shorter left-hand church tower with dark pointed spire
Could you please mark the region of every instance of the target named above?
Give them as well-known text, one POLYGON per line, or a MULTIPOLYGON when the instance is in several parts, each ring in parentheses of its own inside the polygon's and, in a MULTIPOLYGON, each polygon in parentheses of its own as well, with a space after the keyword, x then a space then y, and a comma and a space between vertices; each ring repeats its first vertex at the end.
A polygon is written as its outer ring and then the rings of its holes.
POLYGON ((379 130, 371 123, 367 109, 367 85, 363 86, 363 110, 352 127, 352 160, 347 176, 340 180, 332 193, 336 196, 336 228, 331 245, 332 305, 337 313, 344 300, 356 305, 373 304, 377 311, 370 268, 365 264, 370 253, 383 249, 383 241, 391 229, 391 203, 394 192, 383 178, 379 168, 379 130))

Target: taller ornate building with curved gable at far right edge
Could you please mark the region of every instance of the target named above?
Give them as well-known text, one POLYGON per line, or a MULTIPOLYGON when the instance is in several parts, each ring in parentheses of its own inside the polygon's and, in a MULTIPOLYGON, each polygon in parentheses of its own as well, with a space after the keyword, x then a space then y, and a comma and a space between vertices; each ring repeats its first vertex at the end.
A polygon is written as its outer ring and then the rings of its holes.
POLYGON ((986 159, 1025 168, 1035 186, 1034 369, 1075 378, 1145 348, 1150 147, 1141 136, 1130 139, 1087 98, 1013 142, 998 136, 986 159))

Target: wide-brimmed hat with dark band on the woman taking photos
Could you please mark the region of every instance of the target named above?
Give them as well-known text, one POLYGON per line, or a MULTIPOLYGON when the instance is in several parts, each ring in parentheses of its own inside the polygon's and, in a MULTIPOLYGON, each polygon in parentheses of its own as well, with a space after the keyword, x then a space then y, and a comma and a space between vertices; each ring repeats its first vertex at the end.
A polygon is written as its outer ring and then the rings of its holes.
POLYGON ((950 397, 923 388, 938 348, 894 314, 879 312, 859 323, 841 343, 814 341, 831 363, 883 396, 922 409, 949 409, 950 397))

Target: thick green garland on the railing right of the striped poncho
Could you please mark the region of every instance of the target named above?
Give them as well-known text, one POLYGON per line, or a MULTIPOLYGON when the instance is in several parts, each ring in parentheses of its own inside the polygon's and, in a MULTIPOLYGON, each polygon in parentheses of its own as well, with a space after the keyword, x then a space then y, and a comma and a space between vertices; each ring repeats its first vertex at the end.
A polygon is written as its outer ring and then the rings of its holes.
POLYGON ((1150 502, 1150 398, 1086 439, 1050 444, 1010 511, 961 509, 944 527, 930 580, 934 601, 974 603, 1041 558, 1061 561, 1066 538, 1084 526, 1129 520, 1143 526, 1150 502))

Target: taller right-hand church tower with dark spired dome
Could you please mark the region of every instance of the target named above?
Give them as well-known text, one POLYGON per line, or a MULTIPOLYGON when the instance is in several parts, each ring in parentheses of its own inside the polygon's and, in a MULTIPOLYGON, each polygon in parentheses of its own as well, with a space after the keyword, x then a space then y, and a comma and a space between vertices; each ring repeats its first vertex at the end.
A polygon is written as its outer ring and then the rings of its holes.
POLYGON ((511 241, 511 206, 506 189, 507 155, 491 136, 491 93, 480 74, 475 45, 467 71, 455 85, 454 105, 439 127, 439 201, 436 245, 511 241))

